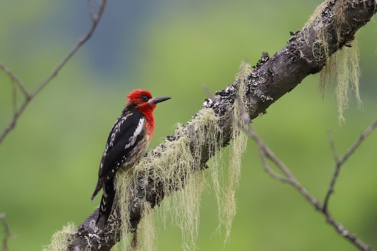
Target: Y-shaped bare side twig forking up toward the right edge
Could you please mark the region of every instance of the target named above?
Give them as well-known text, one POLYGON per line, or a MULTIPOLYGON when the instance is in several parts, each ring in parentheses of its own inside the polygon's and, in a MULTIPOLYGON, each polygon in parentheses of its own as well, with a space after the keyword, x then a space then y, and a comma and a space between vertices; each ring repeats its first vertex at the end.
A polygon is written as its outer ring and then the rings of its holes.
POLYGON ((331 137, 331 134, 328 133, 330 147, 331 147, 331 151, 333 152, 333 156, 334 156, 336 166, 335 166, 333 178, 331 179, 331 183, 329 185, 329 188, 328 188, 326 196, 325 196, 325 200, 323 202, 323 212, 326 212, 328 210, 328 202, 329 202, 331 194, 334 193, 334 186, 335 186, 335 183, 336 183, 337 178, 339 176, 340 168, 346 162, 346 160, 349 158, 349 156, 351 156, 351 154, 353 154, 353 152, 360 146, 362 141, 366 137, 368 137, 368 135, 374 130, 374 128, 376 128, 376 126, 377 126, 377 120, 374 123, 372 123, 372 125, 370 125, 368 128, 366 128, 366 130, 362 134, 360 134, 360 137, 355 141, 355 143, 351 146, 351 148, 348 149, 348 151, 343 155, 343 157, 341 159, 339 159, 339 157, 337 156, 336 151, 335 151, 335 147, 334 147, 333 138, 331 137))

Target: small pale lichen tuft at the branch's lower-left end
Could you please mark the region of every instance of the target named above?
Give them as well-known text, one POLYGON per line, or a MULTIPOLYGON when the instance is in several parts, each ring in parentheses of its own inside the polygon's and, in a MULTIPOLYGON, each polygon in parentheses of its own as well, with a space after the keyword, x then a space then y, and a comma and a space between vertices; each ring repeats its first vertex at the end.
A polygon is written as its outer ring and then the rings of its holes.
POLYGON ((45 246, 43 251, 66 251, 72 242, 72 233, 76 230, 73 223, 68 223, 63 230, 57 231, 51 238, 51 244, 45 246))

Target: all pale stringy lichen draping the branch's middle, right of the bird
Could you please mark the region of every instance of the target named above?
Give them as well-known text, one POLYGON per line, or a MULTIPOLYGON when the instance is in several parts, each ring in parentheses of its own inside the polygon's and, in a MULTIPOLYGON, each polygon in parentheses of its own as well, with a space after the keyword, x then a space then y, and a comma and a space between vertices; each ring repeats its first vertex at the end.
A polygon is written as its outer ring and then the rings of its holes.
MULTIPOLYGON (((159 154, 148 154, 140 163, 120 178, 122 181, 118 194, 120 201, 120 214, 129 215, 130 193, 133 193, 133 184, 141 174, 145 174, 144 180, 152 173, 155 183, 162 184, 164 201, 159 210, 159 216, 165 222, 167 216, 172 218, 174 225, 181 228, 182 247, 184 250, 195 250, 196 239, 199 232, 199 208, 202 191, 208 186, 202 170, 202 147, 205 145, 211 155, 208 161, 208 169, 212 178, 213 190, 218 201, 219 225, 225 226, 225 241, 230 236, 231 223, 236 213, 235 190, 239 184, 241 175, 241 158, 246 149, 247 135, 240 129, 239 123, 243 123, 242 112, 247 111, 247 99, 245 99, 247 76, 250 74, 250 65, 242 64, 237 76, 235 86, 238 91, 233 106, 233 111, 226 116, 234 118, 231 127, 230 163, 227 177, 224 177, 222 164, 222 134, 219 128, 221 118, 212 109, 203 108, 187 125, 178 125, 174 138, 176 140, 164 140, 161 145, 164 151, 159 154), (189 133, 190 132, 190 133, 189 133), (225 183, 227 181, 227 183, 225 183)), ((147 184, 146 184, 147 185, 147 184)), ((122 224, 121 239, 119 245, 122 250, 155 250, 155 225, 148 202, 144 201, 144 212, 135 234, 130 237, 130 225, 122 224), (132 244, 134 243, 134 244, 132 244), (136 243, 136 245, 135 245, 136 243)))

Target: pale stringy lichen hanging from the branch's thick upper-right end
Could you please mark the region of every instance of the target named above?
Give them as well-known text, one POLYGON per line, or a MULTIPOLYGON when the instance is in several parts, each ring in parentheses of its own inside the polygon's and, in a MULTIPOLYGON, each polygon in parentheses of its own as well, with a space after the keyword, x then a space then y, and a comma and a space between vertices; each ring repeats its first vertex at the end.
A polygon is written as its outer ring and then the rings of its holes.
POLYGON ((341 50, 337 50, 330 56, 328 50, 328 26, 334 27, 334 34, 338 44, 340 43, 341 24, 345 22, 345 9, 347 6, 346 0, 326 1, 319 5, 311 16, 308 23, 303 27, 305 30, 316 26, 316 41, 313 43, 313 55, 317 61, 326 59, 326 66, 320 71, 319 89, 322 94, 325 91, 325 86, 335 84, 335 93, 338 103, 339 122, 344 122, 343 110, 348 108, 348 101, 350 89, 354 91, 358 107, 362 106, 359 94, 359 47, 357 40, 347 41, 341 50), (326 13, 323 11, 325 7, 331 2, 333 4, 333 11, 330 12, 326 8, 326 13))

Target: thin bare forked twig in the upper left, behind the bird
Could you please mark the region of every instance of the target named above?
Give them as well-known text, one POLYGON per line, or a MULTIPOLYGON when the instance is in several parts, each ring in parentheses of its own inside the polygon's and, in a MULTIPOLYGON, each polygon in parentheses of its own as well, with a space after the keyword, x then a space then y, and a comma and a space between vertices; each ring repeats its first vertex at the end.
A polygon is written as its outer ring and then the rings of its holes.
MULTIPOLYGON (((58 66, 55 68, 55 70, 52 71, 52 73, 38 86, 38 88, 33 93, 29 94, 26 91, 24 85, 21 83, 21 81, 10 70, 8 70, 3 64, 0 63, 0 68, 2 68, 11 77, 12 81, 16 81, 18 83, 18 85, 20 86, 21 90, 23 91, 23 93, 25 94, 25 97, 26 97, 25 101, 21 104, 20 108, 18 108, 18 110, 15 111, 13 119, 9 122, 8 127, 5 128, 5 130, 0 135, 0 144, 4 140, 5 136, 9 133, 9 131, 11 131, 14 128, 18 117, 23 113, 23 111, 25 110, 26 106, 28 106, 30 101, 32 99, 34 99, 34 97, 37 96, 37 94, 41 90, 43 90, 43 88, 51 81, 51 79, 54 78, 58 74, 60 69, 77 52, 77 50, 80 49, 80 47, 84 43, 86 43, 86 41, 88 41, 90 37, 92 37, 93 32, 97 28, 97 24, 102 17, 103 11, 104 11, 105 6, 106 6, 106 2, 107 2, 107 0, 102 0, 100 8, 98 9, 98 14, 96 16, 94 16, 94 14, 92 14, 93 9, 91 8, 92 7, 91 4, 89 5, 90 6, 90 8, 89 8, 90 16, 92 17, 92 26, 90 27, 89 32, 86 34, 86 36, 84 38, 82 38, 77 43, 77 45, 67 54, 67 56, 60 62, 60 64, 58 64, 58 66)), ((90 1, 89 1, 89 3, 90 3, 90 1)), ((14 94, 13 94, 13 97, 14 97, 14 94)), ((13 101, 13 102, 15 102, 15 101, 13 101)))

